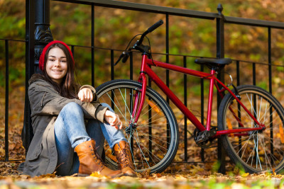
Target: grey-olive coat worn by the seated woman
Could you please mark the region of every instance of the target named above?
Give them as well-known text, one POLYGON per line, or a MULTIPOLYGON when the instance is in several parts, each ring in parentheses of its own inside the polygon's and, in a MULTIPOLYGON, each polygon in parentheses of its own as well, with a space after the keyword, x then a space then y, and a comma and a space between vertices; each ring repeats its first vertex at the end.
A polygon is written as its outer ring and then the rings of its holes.
POLYGON ((29 84, 28 97, 31 103, 34 136, 28 148, 23 173, 30 176, 40 176, 53 173, 58 162, 54 123, 60 110, 67 103, 75 102, 81 105, 84 118, 93 118, 103 122, 107 108, 99 104, 92 86, 81 87, 90 88, 94 93, 92 103, 83 103, 79 99, 60 96, 51 84, 42 79, 40 74, 34 74, 29 84))

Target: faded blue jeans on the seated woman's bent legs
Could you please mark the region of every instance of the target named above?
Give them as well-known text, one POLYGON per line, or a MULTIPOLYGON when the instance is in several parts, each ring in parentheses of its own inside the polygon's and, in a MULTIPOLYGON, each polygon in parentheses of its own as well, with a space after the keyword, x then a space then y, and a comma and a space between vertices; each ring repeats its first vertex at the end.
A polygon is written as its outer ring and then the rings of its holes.
MULTIPOLYGON (((102 105, 112 111, 106 103, 102 103, 102 105)), ((58 151, 58 164, 55 171, 60 176, 69 176, 78 172, 80 163, 74 152, 78 144, 94 139, 97 153, 102 156, 104 139, 107 139, 111 149, 114 144, 122 140, 127 142, 123 132, 116 130, 108 123, 94 119, 85 121, 83 110, 77 103, 67 103, 62 108, 55 121, 54 130, 58 151), (87 124, 85 124, 86 122, 87 124)))

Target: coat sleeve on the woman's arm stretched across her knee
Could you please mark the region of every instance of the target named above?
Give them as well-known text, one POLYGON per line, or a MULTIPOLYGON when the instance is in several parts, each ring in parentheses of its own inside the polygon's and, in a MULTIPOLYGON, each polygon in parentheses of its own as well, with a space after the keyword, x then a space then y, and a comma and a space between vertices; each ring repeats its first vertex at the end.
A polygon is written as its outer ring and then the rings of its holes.
MULTIPOLYGON (((94 91, 95 92, 95 91, 94 91)), ((50 86, 31 84, 28 88, 28 97, 31 103, 31 116, 33 115, 58 115, 62 108, 70 102, 75 102, 82 107, 84 118, 94 118, 104 122, 104 113, 107 107, 102 106, 99 101, 83 103, 79 99, 65 98, 50 86)))

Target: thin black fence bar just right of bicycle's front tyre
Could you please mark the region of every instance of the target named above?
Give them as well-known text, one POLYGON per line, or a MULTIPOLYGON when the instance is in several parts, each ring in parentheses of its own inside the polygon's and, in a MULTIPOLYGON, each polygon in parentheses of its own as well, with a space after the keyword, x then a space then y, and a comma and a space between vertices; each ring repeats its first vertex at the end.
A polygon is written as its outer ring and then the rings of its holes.
MULTIPOLYGON (((187 67, 187 57, 184 56, 183 57, 183 67, 187 67)), ((183 84, 184 84, 184 93, 183 93, 183 96, 184 96, 184 101, 185 101, 185 106, 187 107, 187 74, 183 74, 183 84)), ((185 142, 185 161, 187 161, 187 117, 184 116, 185 118, 185 139, 184 139, 184 142, 185 142)))

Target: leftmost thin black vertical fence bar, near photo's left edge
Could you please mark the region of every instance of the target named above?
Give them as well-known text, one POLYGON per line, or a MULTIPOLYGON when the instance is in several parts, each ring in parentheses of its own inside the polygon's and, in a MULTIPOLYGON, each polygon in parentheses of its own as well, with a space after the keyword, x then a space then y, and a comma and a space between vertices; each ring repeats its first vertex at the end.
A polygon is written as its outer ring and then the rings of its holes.
POLYGON ((9 161, 9 41, 5 40, 5 160, 9 161))

